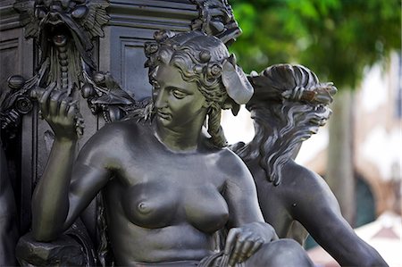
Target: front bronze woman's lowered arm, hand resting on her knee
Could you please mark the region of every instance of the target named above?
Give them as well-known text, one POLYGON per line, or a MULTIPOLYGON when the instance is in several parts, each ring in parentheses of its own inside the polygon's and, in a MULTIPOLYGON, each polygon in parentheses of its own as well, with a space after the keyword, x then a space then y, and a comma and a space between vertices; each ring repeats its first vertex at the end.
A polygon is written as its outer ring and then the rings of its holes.
POLYGON ((247 166, 236 156, 230 166, 224 197, 229 207, 229 233, 224 254, 230 255, 230 266, 241 263, 265 243, 277 239, 271 225, 264 222, 257 201, 255 183, 247 166))

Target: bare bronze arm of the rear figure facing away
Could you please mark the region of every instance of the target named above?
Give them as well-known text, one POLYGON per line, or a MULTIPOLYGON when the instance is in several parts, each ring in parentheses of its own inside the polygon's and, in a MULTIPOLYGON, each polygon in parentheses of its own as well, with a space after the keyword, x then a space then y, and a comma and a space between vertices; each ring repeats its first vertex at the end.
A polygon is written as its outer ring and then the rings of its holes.
POLYGON ((296 176, 292 179, 297 180, 297 188, 289 190, 292 196, 287 204, 293 219, 299 221, 342 266, 388 266, 342 217, 338 201, 325 181, 305 167, 290 164, 293 166, 288 166, 286 171, 294 173, 296 176), (290 202, 297 203, 296 207, 290 202))

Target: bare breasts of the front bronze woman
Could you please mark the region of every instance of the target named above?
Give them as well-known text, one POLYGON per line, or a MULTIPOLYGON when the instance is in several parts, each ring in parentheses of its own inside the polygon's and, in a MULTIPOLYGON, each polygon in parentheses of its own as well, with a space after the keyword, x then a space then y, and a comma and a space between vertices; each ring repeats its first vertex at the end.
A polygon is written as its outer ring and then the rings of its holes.
POLYGON ((213 233, 226 224, 226 201, 213 185, 191 185, 172 180, 155 180, 124 190, 121 205, 129 221, 148 228, 188 223, 213 233))

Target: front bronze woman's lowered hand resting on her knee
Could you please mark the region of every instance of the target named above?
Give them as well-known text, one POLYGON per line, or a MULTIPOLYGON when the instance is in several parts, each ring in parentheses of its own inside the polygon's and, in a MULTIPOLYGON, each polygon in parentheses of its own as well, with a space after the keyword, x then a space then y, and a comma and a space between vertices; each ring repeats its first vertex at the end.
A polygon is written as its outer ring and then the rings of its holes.
POLYGON ((274 239, 278 239, 275 230, 265 222, 247 223, 239 228, 232 228, 226 238, 224 254, 229 255, 229 265, 246 261, 250 256, 274 239))

